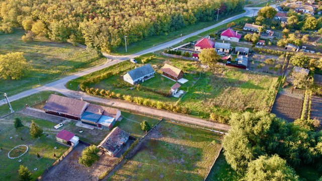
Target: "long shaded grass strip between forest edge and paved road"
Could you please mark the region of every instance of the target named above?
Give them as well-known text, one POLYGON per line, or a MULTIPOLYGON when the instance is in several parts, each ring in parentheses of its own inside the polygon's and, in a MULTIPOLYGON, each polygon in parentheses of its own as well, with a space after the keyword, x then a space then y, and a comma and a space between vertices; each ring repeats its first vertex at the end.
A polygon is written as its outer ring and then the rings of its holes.
MULTIPOLYGON (((240 13, 244 13, 245 11, 242 10, 240 13)), ((232 14, 230 15, 230 17, 238 15, 238 14, 232 14)), ((218 19, 218 22, 223 21, 225 19, 227 19, 229 17, 223 17, 218 19)), ((132 54, 135 52, 139 52, 141 50, 156 46, 158 44, 162 44, 165 43, 167 41, 170 40, 174 40, 177 38, 180 38, 180 35, 182 34, 183 36, 188 35, 190 33, 193 33, 195 31, 198 31, 200 29, 209 27, 211 25, 216 24, 217 21, 210 21, 210 22, 197 22, 193 25, 188 25, 185 28, 182 28, 180 30, 177 31, 173 31, 173 32, 169 32, 166 34, 161 34, 161 35, 155 35, 152 37, 147 37, 143 40, 137 41, 137 42, 133 42, 130 43, 129 45, 127 45, 127 52, 125 52, 125 46, 124 47, 118 47, 115 50, 112 51, 113 54, 115 55, 124 55, 124 54, 132 54)))

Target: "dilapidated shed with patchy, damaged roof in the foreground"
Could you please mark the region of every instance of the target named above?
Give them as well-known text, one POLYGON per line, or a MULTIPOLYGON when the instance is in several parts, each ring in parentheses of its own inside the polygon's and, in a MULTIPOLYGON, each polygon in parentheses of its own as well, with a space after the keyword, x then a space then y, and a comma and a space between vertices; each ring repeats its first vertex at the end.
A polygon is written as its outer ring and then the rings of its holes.
POLYGON ((104 140, 97 146, 103 154, 116 156, 130 137, 130 133, 121 130, 119 127, 114 128, 104 140))

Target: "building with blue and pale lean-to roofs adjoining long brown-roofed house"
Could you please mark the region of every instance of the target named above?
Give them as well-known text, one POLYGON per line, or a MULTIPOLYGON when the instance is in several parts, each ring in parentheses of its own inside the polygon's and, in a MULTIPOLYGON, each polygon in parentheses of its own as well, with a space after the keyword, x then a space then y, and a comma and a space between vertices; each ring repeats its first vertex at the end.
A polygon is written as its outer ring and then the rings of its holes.
POLYGON ((118 109, 90 104, 81 120, 84 124, 110 130, 120 116, 121 111, 118 109))

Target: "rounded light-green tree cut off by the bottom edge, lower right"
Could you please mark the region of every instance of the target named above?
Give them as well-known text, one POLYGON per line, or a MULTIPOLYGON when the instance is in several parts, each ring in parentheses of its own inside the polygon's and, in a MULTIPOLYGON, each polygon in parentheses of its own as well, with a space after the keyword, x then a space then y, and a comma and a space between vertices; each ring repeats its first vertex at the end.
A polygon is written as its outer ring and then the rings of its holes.
POLYGON ((260 156, 248 164, 246 180, 299 180, 294 169, 278 155, 260 156))

